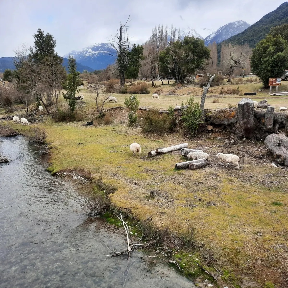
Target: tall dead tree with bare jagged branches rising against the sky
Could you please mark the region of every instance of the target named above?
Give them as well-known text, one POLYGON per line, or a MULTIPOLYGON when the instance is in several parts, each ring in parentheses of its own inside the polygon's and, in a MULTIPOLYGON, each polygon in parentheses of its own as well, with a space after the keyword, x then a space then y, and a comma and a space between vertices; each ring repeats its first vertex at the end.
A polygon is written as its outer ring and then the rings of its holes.
POLYGON ((114 37, 112 37, 111 35, 112 40, 110 40, 110 45, 116 50, 117 54, 113 56, 117 56, 120 87, 124 87, 125 85, 125 70, 129 65, 128 52, 130 48, 130 43, 127 31, 128 29, 127 23, 129 22, 129 18, 130 15, 126 20, 125 24, 122 24, 122 22, 120 22, 119 32, 117 30, 117 33, 114 37))

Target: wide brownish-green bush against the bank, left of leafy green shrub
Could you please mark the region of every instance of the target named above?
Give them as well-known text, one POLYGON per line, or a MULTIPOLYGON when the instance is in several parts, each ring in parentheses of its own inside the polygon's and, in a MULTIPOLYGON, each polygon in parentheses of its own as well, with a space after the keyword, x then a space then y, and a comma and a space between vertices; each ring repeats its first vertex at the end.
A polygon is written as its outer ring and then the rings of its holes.
MULTIPOLYGON (((173 108, 172 108, 173 109, 173 108)), ((142 132, 144 133, 156 133, 163 136, 166 132, 171 131, 176 126, 176 120, 171 114, 160 114, 158 110, 152 109, 144 113, 143 121, 141 123, 142 132)))

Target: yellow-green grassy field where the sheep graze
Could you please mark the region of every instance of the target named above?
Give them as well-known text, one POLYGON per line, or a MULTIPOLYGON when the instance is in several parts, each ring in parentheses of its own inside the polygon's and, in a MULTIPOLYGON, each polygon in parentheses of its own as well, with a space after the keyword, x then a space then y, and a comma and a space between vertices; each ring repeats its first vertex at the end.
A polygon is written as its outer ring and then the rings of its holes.
MULTIPOLYGON (((228 84, 224 89, 226 86, 228 84)), ((220 95, 221 87, 211 88, 213 92, 206 99, 206 108, 227 107, 228 103, 236 104, 243 98, 220 95), (223 102, 212 103, 214 94, 223 102)), ((175 88, 170 85, 161 87, 163 94, 175 88)), ((243 93, 260 88, 261 84, 257 83, 239 85, 243 93)), ((151 93, 157 89, 160 88, 151 88, 151 93)), ((139 95, 140 106, 166 109, 170 105, 181 105, 181 101, 193 94, 200 95, 201 91, 193 85, 176 89, 179 95, 160 94, 159 99, 152 99, 151 94, 139 95)), ((85 103, 79 104, 77 111, 88 121, 95 117, 95 101, 87 90, 80 93, 84 95, 85 103)), ((265 93, 263 91, 253 100, 266 98, 275 107, 287 107, 286 97, 269 98, 265 93)), ((107 103, 105 107, 123 106, 125 97, 127 95, 117 94, 118 102, 107 103)), ((67 104, 62 101, 61 105, 63 108, 67 104)), ((168 225, 176 232, 194 226, 197 241, 203 242, 204 248, 192 256, 189 253, 182 255, 181 263, 192 273, 195 267, 191 257, 195 261, 199 259, 205 266, 206 255, 209 255, 213 265, 207 269, 213 273, 216 273, 215 269, 222 272, 220 287, 225 283, 232 283, 234 287, 264 287, 268 281, 275 285, 287 284, 287 169, 270 165, 273 161, 262 149, 263 141, 241 141, 232 148, 225 148, 219 147, 223 141, 217 139, 221 136, 218 133, 194 139, 181 133, 162 138, 145 135, 140 127, 126 125, 126 113, 125 109, 112 111, 115 122, 111 125, 55 123, 49 116, 45 116, 43 122, 33 124, 47 132, 52 147, 49 171, 61 174, 84 169, 95 178, 102 175, 106 182, 118 187, 118 191, 111 195, 113 203, 128 209, 138 219, 152 217, 158 227, 168 225), (129 150, 134 141, 141 144, 140 158, 133 157, 129 150), (189 143, 189 148, 207 152, 209 166, 196 171, 175 170, 175 163, 185 161, 179 151, 154 158, 147 156, 149 151, 158 147, 179 143, 189 143), (218 152, 237 154, 240 169, 221 166, 215 157, 218 152), (152 189, 158 190, 155 199, 149 197, 152 189)), ((11 125, 30 132, 30 126, 11 125)))

